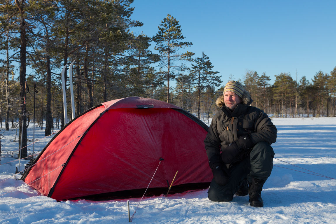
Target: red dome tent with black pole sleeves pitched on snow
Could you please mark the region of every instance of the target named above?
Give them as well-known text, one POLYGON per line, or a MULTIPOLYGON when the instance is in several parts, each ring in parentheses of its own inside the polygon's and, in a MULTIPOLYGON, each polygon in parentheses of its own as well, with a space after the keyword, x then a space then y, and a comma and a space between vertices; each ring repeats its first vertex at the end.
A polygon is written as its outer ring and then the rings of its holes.
POLYGON ((112 100, 62 128, 23 179, 56 200, 139 196, 157 168, 149 194, 166 193, 176 171, 171 192, 202 189, 212 179, 206 134, 203 122, 170 103, 112 100))

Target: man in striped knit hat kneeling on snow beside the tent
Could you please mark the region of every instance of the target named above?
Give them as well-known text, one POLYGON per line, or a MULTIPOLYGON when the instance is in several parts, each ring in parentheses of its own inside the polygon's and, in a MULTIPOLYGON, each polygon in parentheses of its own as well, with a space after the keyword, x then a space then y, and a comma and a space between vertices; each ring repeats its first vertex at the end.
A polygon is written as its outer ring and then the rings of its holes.
POLYGON ((250 106, 252 98, 236 81, 229 81, 216 101, 221 110, 212 119, 205 149, 213 173, 208 197, 231 201, 249 194, 250 205, 262 207, 262 186, 271 174, 277 128, 267 115, 250 106))

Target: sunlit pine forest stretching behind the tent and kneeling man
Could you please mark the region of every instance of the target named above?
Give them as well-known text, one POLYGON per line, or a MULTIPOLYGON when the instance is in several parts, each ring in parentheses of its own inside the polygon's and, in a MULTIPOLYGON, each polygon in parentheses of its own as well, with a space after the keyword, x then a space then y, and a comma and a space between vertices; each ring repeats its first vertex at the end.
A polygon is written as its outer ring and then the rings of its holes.
MULTIPOLYGON (((187 51, 192 37, 183 36, 178 18, 170 14, 158 21, 155 36, 133 33, 143 24, 130 19, 132 2, 1 0, 0 119, 5 127, 0 128, 19 128, 19 148, 27 145, 33 113, 45 135, 65 125, 61 70, 72 61, 76 116, 129 96, 163 100, 201 119, 216 113, 215 100, 225 84, 221 80, 233 76, 222 77, 204 52, 187 51)), ((238 79, 251 93, 253 106, 276 117, 335 117, 336 67, 311 71, 313 80, 258 72, 247 71, 238 79)))

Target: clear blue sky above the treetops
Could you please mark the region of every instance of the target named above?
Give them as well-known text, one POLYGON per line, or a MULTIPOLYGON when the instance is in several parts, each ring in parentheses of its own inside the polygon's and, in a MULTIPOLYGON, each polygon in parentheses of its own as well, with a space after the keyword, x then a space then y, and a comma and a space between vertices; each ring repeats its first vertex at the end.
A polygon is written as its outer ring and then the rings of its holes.
POLYGON ((311 82, 336 66, 336 0, 134 0, 131 7, 144 24, 133 30, 149 37, 168 13, 179 20, 193 43, 187 50, 204 51, 223 82, 248 70, 265 72, 270 84, 282 72, 311 82))

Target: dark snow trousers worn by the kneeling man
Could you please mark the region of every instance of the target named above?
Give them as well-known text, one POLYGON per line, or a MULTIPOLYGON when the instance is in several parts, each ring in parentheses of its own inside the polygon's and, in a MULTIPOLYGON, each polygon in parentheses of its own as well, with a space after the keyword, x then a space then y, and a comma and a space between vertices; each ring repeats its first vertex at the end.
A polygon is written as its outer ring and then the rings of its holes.
POLYGON ((212 201, 232 201, 233 195, 240 187, 240 182, 247 178, 266 181, 273 168, 274 151, 266 142, 258 142, 251 150, 250 156, 243 161, 235 163, 229 168, 230 177, 225 185, 218 185, 212 179, 208 197, 212 201))

